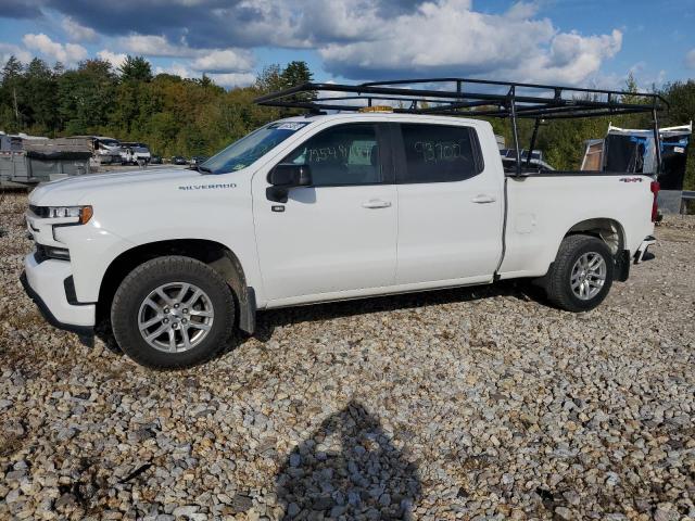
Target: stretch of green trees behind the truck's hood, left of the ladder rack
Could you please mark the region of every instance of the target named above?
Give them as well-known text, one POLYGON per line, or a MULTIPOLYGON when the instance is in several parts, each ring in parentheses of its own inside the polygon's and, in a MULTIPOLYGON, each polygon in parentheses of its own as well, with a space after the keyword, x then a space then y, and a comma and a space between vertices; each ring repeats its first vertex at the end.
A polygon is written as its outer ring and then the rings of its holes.
POLYGON ((110 136, 146 142, 163 156, 211 155, 279 117, 279 111, 253 104, 254 98, 312 79, 306 63, 291 62, 264 68, 251 87, 226 90, 205 75, 154 75, 141 56, 127 56, 115 69, 103 60, 66 69, 11 56, 1 74, 0 130, 110 136))

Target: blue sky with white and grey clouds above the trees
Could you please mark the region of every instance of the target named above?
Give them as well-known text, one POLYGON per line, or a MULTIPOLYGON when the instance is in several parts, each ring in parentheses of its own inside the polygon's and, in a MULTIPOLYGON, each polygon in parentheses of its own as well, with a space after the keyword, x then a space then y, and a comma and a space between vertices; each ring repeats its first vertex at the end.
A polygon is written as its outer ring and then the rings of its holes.
POLYGON ((642 89, 695 77, 695 0, 0 0, 0 63, 143 55, 231 88, 304 60, 319 81, 479 77, 642 89))

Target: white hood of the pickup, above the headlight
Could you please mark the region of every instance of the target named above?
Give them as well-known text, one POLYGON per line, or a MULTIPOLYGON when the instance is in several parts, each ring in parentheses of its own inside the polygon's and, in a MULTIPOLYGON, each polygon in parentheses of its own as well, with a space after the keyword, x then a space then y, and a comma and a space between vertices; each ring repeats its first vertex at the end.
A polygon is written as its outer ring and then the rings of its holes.
POLYGON ((180 168, 75 176, 40 183, 29 194, 29 204, 37 206, 89 204, 86 198, 96 191, 101 192, 110 189, 122 191, 124 188, 134 191, 149 190, 200 180, 202 176, 199 171, 180 168))

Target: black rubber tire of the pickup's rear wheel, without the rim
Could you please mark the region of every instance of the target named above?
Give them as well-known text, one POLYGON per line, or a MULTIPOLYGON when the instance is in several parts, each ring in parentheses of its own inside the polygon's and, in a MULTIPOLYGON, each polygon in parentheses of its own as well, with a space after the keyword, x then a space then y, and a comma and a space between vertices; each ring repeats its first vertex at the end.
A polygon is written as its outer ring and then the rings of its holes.
POLYGON ((547 275, 543 278, 543 287, 548 300, 555 306, 567 312, 587 312, 598 306, 612 285, 615 260, 604 241, 591 236, 566 237, 557 252, 557 257, 547 275), (603 288, 591 298, 582 300, 571 288, 571 275, 574 264, 586 253, 601 255, 606 264, 606 279, 603 288))

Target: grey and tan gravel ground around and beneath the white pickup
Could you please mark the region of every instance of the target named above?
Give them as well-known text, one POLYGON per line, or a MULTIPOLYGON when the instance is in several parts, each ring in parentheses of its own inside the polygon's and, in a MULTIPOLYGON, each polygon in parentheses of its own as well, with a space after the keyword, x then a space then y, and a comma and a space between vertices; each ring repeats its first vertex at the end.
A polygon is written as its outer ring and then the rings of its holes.
POLYGON ((265 313, 192 370, 47 326, 0 207, 0 518, 695 517, 695 218, 598 309, 515 284, 265 313))

